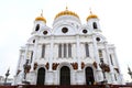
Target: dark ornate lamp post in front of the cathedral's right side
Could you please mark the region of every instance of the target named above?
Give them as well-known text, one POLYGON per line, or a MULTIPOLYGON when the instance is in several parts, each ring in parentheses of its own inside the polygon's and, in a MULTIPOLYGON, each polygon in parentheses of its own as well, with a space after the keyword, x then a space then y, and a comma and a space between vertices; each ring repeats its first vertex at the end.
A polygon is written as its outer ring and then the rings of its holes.
POLYGON ((105 74, 105 67, 106 64, 103 62, 103 58, 100 58, 100 64, 99 64, 100 68, 102 69, 102 74, 103 74, 103 85, 106 85, 106 88, 110 88, 109 85, 107 84, 107 78, 106 78, 106 74, 105 74))

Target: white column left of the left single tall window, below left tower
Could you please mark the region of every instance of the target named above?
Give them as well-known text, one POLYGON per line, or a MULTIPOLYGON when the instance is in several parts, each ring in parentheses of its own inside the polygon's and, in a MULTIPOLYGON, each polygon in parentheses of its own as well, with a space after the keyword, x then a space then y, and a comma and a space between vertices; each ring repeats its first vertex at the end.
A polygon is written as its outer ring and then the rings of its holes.
POLYGON ((33 67, 34 67, 34 61, 37 58, 37 44, 38 44, 38 37, 35 37, 35 43, 34 43, 34 48, 33 48, 33 61, 31 64, 31 72, 33 72, 33 67))

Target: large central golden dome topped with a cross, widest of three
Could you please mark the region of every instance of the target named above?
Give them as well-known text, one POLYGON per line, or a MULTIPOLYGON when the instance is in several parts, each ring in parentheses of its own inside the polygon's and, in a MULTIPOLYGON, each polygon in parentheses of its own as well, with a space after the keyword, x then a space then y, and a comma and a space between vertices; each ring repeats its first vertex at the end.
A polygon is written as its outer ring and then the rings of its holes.
POLYGON ((67 7, 66 7, 66 10, 65 10, 65 11, 62 11, 62 12, 57 13, 56 16, 55 16, 55 19, 58 18, 58 16, 62 16, 62 15, 74 15, 74 16, 76 16, 76 18, 79 19, 79 16, 78 16, 75 12, 69 11, 69 10, 67 9, 67 7))

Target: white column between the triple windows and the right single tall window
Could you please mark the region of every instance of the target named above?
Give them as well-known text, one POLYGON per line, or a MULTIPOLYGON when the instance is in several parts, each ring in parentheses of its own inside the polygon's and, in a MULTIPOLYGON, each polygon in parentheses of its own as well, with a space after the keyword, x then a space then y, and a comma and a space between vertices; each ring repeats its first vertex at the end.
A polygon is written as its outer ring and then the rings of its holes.
POLYGON ((81 53, 80 53, 79 35, 76 36, 76 44, 77 44, 77 45, 76 45, 76 46, 77 46, 77 47, 76 47, 76 48, 77 48, 77 51, 76 51, 76 53, 77 53, 76 56, 77 56, 77 59, 78 59, 78 70, 80 70, 80 69, 81 69, 81 65, 80 65, 80 64, 81 64, 81 63, 80 63, 80 54, 81 54, 81 53))

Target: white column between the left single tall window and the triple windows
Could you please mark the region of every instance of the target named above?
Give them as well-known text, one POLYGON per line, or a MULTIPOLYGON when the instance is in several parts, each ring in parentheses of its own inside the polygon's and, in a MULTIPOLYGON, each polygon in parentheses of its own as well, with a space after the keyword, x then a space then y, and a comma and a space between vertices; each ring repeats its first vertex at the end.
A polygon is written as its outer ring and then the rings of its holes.
POLYGON ((51 45, 50 45, 50 70, 52 70, 52 61, 53 61, 53 45, 54 45, 54 36, 51 36, 51 45))

